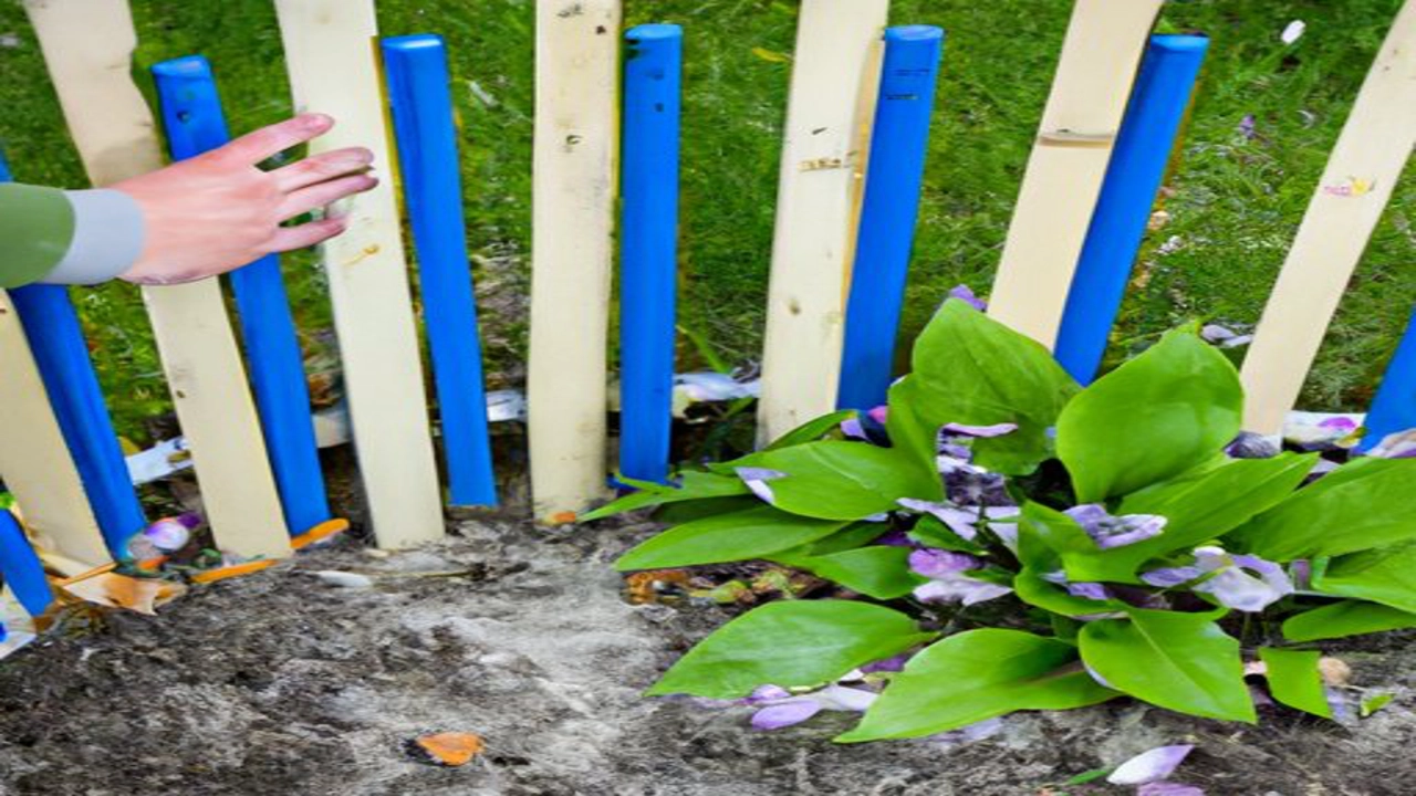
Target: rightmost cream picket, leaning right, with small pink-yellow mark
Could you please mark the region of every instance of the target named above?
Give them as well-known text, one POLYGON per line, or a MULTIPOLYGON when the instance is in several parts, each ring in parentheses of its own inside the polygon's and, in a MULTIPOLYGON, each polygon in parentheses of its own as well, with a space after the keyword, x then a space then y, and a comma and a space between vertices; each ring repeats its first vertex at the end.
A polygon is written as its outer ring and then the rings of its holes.
POLYGON ((1245 356, 1245 429, 1281 429, 1413 144, 1416 3, 1408 0, 1362 82, 1245 356))

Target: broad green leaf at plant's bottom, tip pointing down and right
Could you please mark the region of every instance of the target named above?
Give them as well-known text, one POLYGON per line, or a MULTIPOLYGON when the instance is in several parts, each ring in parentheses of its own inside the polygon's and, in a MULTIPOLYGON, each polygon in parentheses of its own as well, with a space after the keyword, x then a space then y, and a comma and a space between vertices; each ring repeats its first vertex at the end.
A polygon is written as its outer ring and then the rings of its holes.
POLYGON ((1131 609, 1089 622, 1082 660, 1114 688, 1180 712, 1255 721, 1239 642, 1209 615, 1131 609))

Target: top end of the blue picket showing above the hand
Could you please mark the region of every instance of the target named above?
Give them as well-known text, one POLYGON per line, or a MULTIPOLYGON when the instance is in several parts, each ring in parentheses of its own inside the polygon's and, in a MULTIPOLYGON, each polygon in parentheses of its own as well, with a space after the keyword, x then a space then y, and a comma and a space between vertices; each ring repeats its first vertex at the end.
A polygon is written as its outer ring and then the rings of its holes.
POLYGON ((163 92, 163 129, 174 160, 195 157, 231 139, 211 64, 204 55, 153 64, 153 79, 163 92))

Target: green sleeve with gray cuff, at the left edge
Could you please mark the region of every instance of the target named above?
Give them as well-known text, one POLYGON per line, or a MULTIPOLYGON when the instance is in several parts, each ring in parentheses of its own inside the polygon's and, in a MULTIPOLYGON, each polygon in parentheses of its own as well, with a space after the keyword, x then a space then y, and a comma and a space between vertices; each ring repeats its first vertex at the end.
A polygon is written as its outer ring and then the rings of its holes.
POLYGON ((142 210, 120 191, 0 184, 0 288, 106 282, 142 248, 142 210))

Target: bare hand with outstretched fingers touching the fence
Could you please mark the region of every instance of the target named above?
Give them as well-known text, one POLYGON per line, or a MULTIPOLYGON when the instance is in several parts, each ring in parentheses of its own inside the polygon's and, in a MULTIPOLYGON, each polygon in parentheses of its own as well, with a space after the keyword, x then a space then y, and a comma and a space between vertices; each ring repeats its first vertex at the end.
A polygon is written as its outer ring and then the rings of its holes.
POLYGON ((194 282, 241 268, 270 252, 313 246, 344 231, 346 220, 326 217, 297 227, 282 221, 378 184, 368 174, 374 153, 338 149, 273 171, 265 159, 324 135, 334 120, 302 113, 113 190, 143 211, 143 251, 120 278, 139 285, 194 282))

